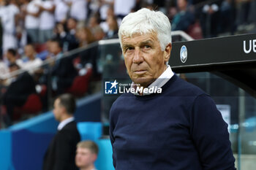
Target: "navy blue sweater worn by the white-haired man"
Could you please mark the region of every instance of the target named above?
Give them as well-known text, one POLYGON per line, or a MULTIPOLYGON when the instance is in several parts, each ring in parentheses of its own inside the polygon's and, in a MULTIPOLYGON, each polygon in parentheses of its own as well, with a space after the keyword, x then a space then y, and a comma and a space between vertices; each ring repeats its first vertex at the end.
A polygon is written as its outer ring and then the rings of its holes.
POLYGON ((120 96, 110 110, 117 170, 233 170, 227 124, 214 101, 176 74, 162 94, 120 96))

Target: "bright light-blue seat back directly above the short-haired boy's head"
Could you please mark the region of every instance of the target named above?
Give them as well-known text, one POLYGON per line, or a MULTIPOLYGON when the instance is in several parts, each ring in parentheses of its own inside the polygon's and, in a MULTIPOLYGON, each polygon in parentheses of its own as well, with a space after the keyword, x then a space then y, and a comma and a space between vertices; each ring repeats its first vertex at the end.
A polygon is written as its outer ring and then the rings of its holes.
POLYGON ((77 124, 81 140, 97 140, 102 136, 102 123, 79 122, 77 124))

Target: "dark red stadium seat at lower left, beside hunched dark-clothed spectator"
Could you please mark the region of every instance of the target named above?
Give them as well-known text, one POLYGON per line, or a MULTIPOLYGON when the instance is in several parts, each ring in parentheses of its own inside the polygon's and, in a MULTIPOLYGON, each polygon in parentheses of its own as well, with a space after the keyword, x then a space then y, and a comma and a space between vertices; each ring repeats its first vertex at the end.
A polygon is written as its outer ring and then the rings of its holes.
POLYGON ((18 120, 22 115, 36 114, 42 110, 42 101, 35 93, 29 95, 22 107, 15 107, 13 118, 18 120))

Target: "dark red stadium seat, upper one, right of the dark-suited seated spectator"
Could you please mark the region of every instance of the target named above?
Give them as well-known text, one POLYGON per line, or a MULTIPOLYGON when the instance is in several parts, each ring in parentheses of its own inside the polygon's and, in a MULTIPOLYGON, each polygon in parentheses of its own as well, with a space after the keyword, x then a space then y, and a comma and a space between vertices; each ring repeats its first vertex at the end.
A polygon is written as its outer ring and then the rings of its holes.
POLYGON ((67 89, 67 93, 71 93, 74 96, 80 97, 84 96, 89 90, 89 82, 92 75, 92 69, 87 69, 86 74, 83 76, 75 77, 70 88, 67 89))

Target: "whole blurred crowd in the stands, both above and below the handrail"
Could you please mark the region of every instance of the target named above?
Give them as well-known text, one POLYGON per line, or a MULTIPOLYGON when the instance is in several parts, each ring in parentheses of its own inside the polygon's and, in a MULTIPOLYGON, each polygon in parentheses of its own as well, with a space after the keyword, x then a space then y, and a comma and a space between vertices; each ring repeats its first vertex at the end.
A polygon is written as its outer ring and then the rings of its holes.
POLYGON ((54 93, 68 92, 75 77, 94 67, 96 52, 84 53, 79 64, 74 57, 59 60, 64 53, 118 38, 122 18, 142 7, 164 12, 173 31, 195 39, 256 32, 256 0, 1 0, 1 104, 10 117, 31 93, 41 93, 36 85, 49 86, 49 75, 54 93), (7 79, 20 69, 26 72, 7 79))

